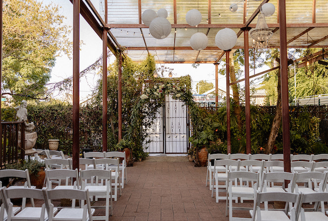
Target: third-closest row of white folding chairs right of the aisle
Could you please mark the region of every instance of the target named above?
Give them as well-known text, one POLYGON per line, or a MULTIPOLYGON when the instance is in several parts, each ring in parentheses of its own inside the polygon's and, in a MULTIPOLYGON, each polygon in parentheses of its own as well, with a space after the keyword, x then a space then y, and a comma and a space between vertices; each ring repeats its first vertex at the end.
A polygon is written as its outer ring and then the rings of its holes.
MULTIPOLYGON (((306 163, 306 162, 305 162, 306 163)), ((309 162, 307 162, 309 163, 309 162)), ((292 162, 292 165, 295 164, 295 168, 298 168, 299 162, 292 162)), ((227 177, 228 177, 228 171, 250 171, 250 172, 256 172, 259 175, 259 179, 262 179, 262 172, 264 173, 273 173, 273 172, 283 172, 283 161, 257 161, 257 160, 215 160, 214 162, 214 173, 213 176, 211 176, 212 183, 210 185, 210 190, 212 190, 212 196, 215 188, 216 192, 216 201, 224 199, 222 197, 219 197, 218 192, 225 192, 227 189, 227 177), (219 185, 219 182, 224 182, 224 185, 219 185)), ((304 165, 303 165, 304 166, 304 165)), ((299 171, 294 170, 294 173, 298 173, 299 171)), ((300 174, 304 172, 312 172, 313 174, 324 174, 323 172, 313 172, 311 169, 308 171, 301 171, 300 174)), ((290 173, 293 174, 293 173, 290 173)), ((279 178, 277 178, 279 179, 279 178)), ((305 179, 305 178, 304 178, 305 179)), ((288 180, 286 178, 286 180, 288 180)), ((237 179, 236 179, 237 182, 237 179)), ((307 180, 308 185, 311 187, 313 181, 307 180)), ((273 186, 273 181, 271 181, 273 186)), ((315 188, 318 188, 319 182, 315 182, 315 188)), ((325 185, 326 187, 326 185, 325 185)), ((324 187, 324 188, 325 188, 324 187)))

